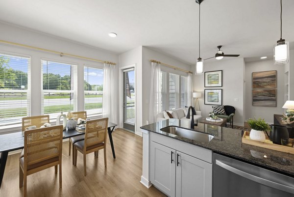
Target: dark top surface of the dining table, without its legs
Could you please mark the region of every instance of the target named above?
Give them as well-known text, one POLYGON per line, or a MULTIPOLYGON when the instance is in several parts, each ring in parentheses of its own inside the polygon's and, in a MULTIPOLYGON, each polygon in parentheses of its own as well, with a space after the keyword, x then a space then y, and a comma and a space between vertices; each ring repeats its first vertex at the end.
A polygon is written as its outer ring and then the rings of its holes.
MULTIPOLYGON (((108 122, 108 128, 115 127, 117 124, 108 122)), ((84 133, 79 133, 75 129, 64 130, 63 139, 71 138, 74 136, 83 135, 84 133)), ((13 151, 24 148, 24 137, 22 132, 10 133, 0 135, 0 152, 3 151, 13 151)))

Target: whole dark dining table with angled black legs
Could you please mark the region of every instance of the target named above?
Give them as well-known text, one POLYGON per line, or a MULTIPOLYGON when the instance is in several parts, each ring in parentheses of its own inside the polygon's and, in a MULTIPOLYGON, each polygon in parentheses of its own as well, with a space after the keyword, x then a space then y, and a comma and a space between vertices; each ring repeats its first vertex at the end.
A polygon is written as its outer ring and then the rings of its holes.
MULTIPOLYGON (((107 132, 108 132, 112 155, 114 159, 116 157, 115 157, 114 145, 112 140, 112 132, 116 126, 117 124, 112 122, 108 122, 108 126, 107 126, 107 132)), ((80 136, 84 134, 85 132, 78 132, 75 129, 72 129, 72 130, 66 129, 63 131, 63 139, 69 139, 74 136, 80 136)), ((25 140, 24 140, 22 131, 0 135, 0 154, 1 154, 0 155, 0 188, 1 188, 1 183, 2 183, 2 179, 4 175, 8 152, 23 149, 24 143, 25 143, 24 141, 25 140)))

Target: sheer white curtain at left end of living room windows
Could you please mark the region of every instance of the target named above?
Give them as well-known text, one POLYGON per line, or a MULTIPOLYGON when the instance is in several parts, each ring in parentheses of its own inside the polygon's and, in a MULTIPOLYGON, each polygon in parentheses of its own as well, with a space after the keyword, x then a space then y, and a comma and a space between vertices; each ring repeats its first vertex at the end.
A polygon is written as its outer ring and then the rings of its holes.
POLYGON ((157 113, 161 112, 162 82, 160 79, 160 63, 151 62, 149 123, 156 122, 157 113))

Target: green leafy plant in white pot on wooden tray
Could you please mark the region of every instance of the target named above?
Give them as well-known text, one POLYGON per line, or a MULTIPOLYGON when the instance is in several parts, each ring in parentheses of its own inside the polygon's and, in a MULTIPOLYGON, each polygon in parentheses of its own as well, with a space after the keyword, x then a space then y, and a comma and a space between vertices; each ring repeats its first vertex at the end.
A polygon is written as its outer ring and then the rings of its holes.
POLYGON ((266 140, 264 131, 270 131, 270 126, 266 123, 265 119, 249 118, 247 123, 251 127, 250 139, 264 142, 266 140))

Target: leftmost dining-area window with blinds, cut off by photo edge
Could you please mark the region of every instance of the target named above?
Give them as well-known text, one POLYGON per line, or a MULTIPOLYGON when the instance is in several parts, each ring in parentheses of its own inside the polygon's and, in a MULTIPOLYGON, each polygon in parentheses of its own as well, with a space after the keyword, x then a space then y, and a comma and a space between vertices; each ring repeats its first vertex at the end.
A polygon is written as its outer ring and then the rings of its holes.
POLYGON ((0 54, 0 126, 30 115, 30 58, 0 54))

